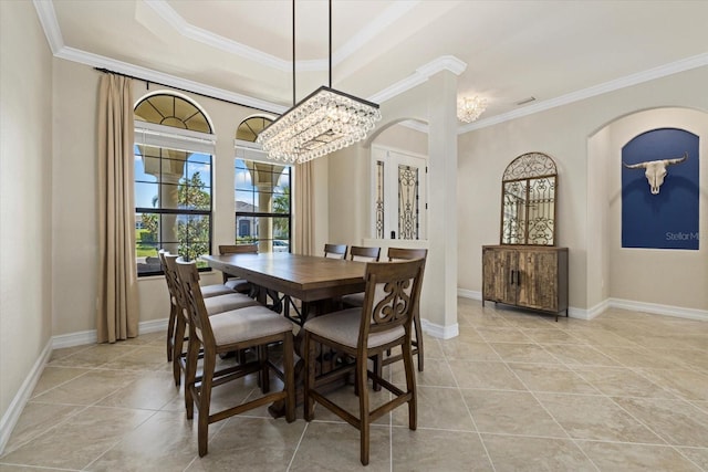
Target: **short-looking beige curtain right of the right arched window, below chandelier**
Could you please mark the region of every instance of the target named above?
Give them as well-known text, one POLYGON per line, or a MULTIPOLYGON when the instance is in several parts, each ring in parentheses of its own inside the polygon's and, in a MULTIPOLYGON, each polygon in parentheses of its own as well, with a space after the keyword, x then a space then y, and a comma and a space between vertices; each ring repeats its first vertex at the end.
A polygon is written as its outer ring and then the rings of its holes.
POLYGON ((295 254, 314 254, 314 197, 312 160, 295 166, 295 254))

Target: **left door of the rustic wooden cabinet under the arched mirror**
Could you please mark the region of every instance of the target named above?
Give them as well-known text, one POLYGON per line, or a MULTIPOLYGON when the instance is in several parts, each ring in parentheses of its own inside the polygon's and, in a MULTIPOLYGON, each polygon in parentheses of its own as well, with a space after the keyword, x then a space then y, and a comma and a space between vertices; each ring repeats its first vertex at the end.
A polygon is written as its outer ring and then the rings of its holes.
POLYGON ((512 277, 512 271, 516 272, 516 269, 517 251, 485 248, 482 251, 483 298, 516 304, 517 285, 516 277, 512 277))

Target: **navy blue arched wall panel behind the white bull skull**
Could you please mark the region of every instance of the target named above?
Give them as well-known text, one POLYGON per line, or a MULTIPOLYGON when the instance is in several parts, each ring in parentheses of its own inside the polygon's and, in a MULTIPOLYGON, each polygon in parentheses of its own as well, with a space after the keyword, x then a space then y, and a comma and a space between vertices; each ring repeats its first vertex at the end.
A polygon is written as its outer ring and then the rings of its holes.
POLYGON ((622 148, 622 160, 638 164, 681 157, 668 166, 658 195, 652 195, 644 169, 622 166, 622 247, 698 250, 698 136, 684 129, 643 133, 622 148))

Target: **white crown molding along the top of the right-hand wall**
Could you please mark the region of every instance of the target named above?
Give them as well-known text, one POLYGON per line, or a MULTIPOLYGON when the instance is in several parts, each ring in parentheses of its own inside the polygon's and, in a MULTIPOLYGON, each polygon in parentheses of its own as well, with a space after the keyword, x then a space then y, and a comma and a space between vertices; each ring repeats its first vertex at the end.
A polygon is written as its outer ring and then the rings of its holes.
POLYGON ((666 77, 679 72, 689 71, 691 69, 702 67, 708 65, 708 53, 694 55, 683 59, 680 61, 671 62, 669 64, 660 65, 658 67, 649 69, 647 71, 631 74, 614 81, 605 82, 603 84, 594 85, 592 87, 583 88, 577 92, 572 92, 559 97, 546 99, 543 102, 529 105, 521 109, 514 109, 513 112, 503 113, 501 115, 492 116, 487 119, 480 119, 469 125, 460 126, 457 130, 458 135, 473 132, 475 129, 486 128, 488 126, 497 125, 499 123, 509 122, 511 119, 520 118, 522 116, 533 115, 539 112, 555 108, 558 106, 568 105, 574 102, 580 102, 585 98, 591 98, 597 95, 602 95, 608 92, 614 92, 621 88, 637 85, 644 82, 653 81, 656 78, 666 77))

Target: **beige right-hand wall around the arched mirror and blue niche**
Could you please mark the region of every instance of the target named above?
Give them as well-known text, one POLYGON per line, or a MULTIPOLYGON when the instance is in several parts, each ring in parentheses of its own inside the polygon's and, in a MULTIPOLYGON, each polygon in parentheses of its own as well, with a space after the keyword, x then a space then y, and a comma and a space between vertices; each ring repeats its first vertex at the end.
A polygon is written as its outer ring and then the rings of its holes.
MULTIPOLYGON (((618 276, 617 266, 603 262, 614 258, 610 247, 616 245, 613 238, 617 235, 607 221, 613 213, 610 210, 603 213, 597 208, 607 192, 613 191, 604 180, 610 172, 606 154, 617 153, 616 145, 621 140, 613 138, 612 132, 598 132, 620 117, 649 108, 675 106, 706 112, 707 81, 708 67, 700 67, 461 135, 459 287, 481 291, 481 245, 499 241, 501 175, 513 158, 535 150, 553 157, 559 168, 558 244, 570 248, 570 305, 579 315, 608 296, 707 310, 704 290, 686 293, 683 277, 664 280, 659 294, 648 295, 645 290, 657 282, 649 284, 646 280, 638 282, 631 276, 618 276), (591 141, 595 134, 600 137, 591 141), (589 158, 591 151, 592 160, 589 158), (607 279, 614 281, 612 290, 607 279)), ((705 182, 706 166, 702 167, 705 182)), ((705 192, 701 195, 705 207, 705 192)), ((705 209, 701 214, 705 216, 705 209)), ((705 230, 705 219, 702 224, 705 230)), ((673 264, 671 271, 695 276, 705 286, 705 251, 688 256, 671 254, 662 263, 673 264), (701 266, 702 271, 699 270, 701 266)), ((623 261, 623 269, 633 273, 644 271, 648 275, 649 269, 657 266, 644 253, 623 261)))

